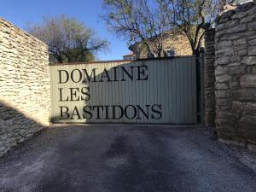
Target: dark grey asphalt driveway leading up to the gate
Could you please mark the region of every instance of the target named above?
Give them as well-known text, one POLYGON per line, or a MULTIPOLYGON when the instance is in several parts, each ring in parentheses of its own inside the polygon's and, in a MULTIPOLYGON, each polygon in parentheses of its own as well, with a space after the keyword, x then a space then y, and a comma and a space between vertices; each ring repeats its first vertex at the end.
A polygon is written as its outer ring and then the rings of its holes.
POLYGON ((49 128, 0 158, 0 191, 255 192, 256 157, 205 128, 49 128))

